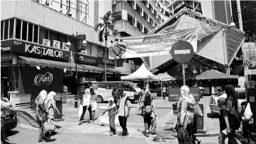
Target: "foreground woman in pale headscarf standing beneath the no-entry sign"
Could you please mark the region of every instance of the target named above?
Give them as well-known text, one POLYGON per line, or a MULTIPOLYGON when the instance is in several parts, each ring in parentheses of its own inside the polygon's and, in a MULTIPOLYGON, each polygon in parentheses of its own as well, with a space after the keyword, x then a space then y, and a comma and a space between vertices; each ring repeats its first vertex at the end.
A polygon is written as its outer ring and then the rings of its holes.
MULTIPOLYGON (((192 95, 190 95, 189 87, 183 85, 180 89, 181 97, 177 104, 178 117, 177 126, 184 127, 187 131, 189 138, 184 138, 184 140, 179 140, 179 143, 194 143, 193 140, 193 126, 194 126, 194 104, 195 100, 192 95)), ((178 134, 179 131, 177 131, 178 134)))

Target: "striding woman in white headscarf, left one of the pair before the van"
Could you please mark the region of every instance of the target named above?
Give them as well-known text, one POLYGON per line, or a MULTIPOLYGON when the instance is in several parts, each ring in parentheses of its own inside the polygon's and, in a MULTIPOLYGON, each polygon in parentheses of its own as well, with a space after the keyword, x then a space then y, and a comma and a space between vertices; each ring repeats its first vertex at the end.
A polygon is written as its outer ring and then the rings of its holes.
POLYGON ((80 103, 83 106, 83 112, 82 112, 82 115, 79 119, 79 124, 78 125, 82 124, 82 120, 84 119, 84 114, 85 114, 85 112, 87 112, 87 107, 89 107, 90 100, 91 100, 91 92, 90 92, 90 89, 89 89, 90 86, 85 85, 84 88, 86 88, 86 90, 84 92, 83 98, 82 98, 81 103, 80 103))

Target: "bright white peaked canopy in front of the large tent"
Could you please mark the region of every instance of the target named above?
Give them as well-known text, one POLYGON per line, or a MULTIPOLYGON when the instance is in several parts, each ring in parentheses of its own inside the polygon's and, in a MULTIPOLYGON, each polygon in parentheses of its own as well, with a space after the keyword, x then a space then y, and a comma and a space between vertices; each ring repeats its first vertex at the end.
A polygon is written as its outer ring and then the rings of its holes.
POLYGON ((121 80, 148 80, 148 81, 160 81, 161 78, 153 75, 145 64, 142 64, 140 68, 129 76, 121 76, 121 80))

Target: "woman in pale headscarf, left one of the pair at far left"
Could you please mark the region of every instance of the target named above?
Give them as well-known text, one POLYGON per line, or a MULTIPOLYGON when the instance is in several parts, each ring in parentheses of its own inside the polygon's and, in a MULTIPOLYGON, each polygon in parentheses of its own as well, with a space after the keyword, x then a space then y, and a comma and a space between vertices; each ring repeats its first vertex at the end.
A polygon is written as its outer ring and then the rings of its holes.
POLYGON ((42 90, 39 93, 38 97, 35 99, 35 116, 40 127, 38 142, 45 141, 45 134, 43 133, 43 124, 45 124, 45 121, 47 121, 48 119, 48 102, 46 100, 47 97, 47 92, 45 90, 42 90))

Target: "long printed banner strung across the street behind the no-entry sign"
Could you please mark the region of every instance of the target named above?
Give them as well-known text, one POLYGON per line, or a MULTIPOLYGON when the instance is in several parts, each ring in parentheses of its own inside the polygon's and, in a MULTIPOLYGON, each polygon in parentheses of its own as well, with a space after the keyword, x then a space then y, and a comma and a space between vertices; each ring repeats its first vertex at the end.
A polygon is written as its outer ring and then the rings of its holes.
POLYGON ((171 54, 172 44, 180 40, 189 42, 193 46, 194 52, 197 52, 197 29, 192 28, 154 35, 122 37, 122 39, 112 42, 108 59, 171 54))

